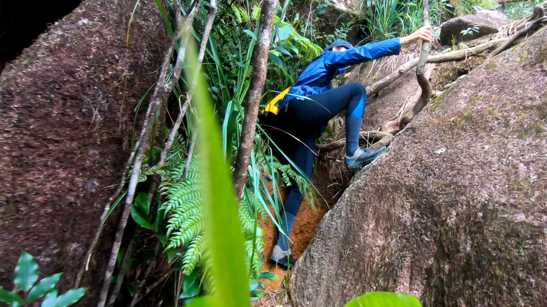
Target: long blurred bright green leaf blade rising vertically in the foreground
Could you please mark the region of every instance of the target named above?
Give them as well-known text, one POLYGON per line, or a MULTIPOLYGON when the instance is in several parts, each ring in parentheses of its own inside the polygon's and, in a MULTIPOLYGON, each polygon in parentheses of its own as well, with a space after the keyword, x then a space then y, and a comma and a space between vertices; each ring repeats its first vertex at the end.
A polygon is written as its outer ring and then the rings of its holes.
MULTIPOLYGON (((207 91, 207 82, 199 73, 199 66, 195 60, 196 50, 192 39, 188 39, 188 62, 191 64, 187 74, 196 76, 195 88, 197 115, 201 121, 197 122, 200 132, 199 155, 200 169, 202 170, 203 205, 206 210, 206 235, 210 241, 212 258, 211 275, 217 281, 215 298, 208 302, 208 306, 241 307, 249 305, 248 275, 245 264, 245 247, 241 223, 238 217, 238 204, 229 166, 222 155, 222 139, 218 121, 213 115, 211 95, 207 91), (188 53, 190 52, 190 54, 188 53), (222 205, 219 205, 222 204, 222 205), (226 257, 226 255, 230 255, 226 257)), ((194 302, 192 302, 194 303, 194 302)), ((204 303, 202 303, 204 304, 204 303)), ((199 306, 199 305, 194 305, 199 306)))

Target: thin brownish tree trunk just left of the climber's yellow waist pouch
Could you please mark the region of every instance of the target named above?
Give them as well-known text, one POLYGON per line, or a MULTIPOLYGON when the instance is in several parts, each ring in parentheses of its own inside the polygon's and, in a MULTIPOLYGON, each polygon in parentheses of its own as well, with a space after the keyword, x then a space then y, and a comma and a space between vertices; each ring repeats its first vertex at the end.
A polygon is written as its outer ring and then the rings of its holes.
POLYGON ((237 202, 241 199, 243 187, 247 181, 247 167, 251 160, 254 132, 257 127, 260 96, 266 81, 266 62, 270 50, 270 37, 274 23, 277 0, 264 0, 260 14, 260 26, 258 32, 258 48, 254 50, 253 74, 251 75, 251 87, 245 106, 245 119, 241 132, 241 144, 237 152, 237 163, 234 173, 237 202))

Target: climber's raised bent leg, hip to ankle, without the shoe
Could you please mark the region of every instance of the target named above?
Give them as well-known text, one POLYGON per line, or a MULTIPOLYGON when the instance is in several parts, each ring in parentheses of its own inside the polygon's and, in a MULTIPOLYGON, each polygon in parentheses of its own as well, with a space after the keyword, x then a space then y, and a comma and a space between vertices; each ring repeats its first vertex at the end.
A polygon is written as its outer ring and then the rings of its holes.
POLYGON ((351 156, 359 147, 359 131, 363 122, 366 104, 366 88, 359 83, 350 83, 310 97, 313 101, 298 101, 291 106, 299 118, 300 125, 322 126, 346 110, 346 154, 351 156))

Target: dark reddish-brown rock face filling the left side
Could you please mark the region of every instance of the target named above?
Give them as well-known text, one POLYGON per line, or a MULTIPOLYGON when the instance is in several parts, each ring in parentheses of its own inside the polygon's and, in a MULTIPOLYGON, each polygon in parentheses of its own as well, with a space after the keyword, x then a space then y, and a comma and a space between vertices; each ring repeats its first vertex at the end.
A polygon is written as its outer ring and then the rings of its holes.
MULTIPOLYGON (((156 3, 83 1, 40 34, 0 77, 0 286, 13 288, 22 250, 40 278, 85 261, 103 206, 129 156, 133 109, 157 80, 168 39, 156 3)), ((78 306, 95 306, 113 241, 108 221, 78 306)))

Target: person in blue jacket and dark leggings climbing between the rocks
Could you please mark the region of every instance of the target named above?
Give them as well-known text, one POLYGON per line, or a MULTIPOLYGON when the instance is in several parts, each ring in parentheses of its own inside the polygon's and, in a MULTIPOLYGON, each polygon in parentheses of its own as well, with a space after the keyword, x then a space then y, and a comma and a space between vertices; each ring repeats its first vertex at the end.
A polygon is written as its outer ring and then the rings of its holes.
MULTIPOLYGON (((265 123, 274 128, 271 131, 272 139, 298 166, 300 174, 304 173, 311 178, 315 140, 323 133, 328 121, 343 110, 346 110, 346 168, 356 169, 364 166, 386 150, 385 146, 377 150, 359 147, 366 88, 359 83, 333 88, 330 81, 334 76, 344 73, 347 66, 398 55, 401 45, 411 44, 420 39, 433 41, 431 27, 422 27, 409 36, 386 39, 359 47, 353 47, 345 40, 336 40, 308 64, 294 86, 287 88, 266 105, 265 123), (267 116, 270 113, 274 115, 267 116)), ((272 261, 284 267, 292 268, 296 261, 290 251, 288 237, 303 198, 298 185, 292 181, 292 187, 280 214, 281 225, 287 235, 278 233, 277 243, 270 257, 272 261)))

